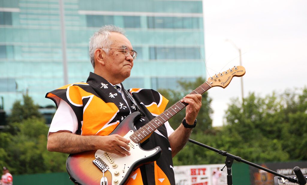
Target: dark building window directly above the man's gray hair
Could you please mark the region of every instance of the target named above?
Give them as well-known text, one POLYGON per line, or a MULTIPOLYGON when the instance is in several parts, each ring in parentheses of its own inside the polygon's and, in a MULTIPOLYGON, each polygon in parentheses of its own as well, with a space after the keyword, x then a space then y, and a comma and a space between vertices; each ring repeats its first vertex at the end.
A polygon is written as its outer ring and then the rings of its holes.
POLYGON ((114 16, 111 15, 86 15, 87 27, 101 27, 103 25, 114 24, 114 16))

